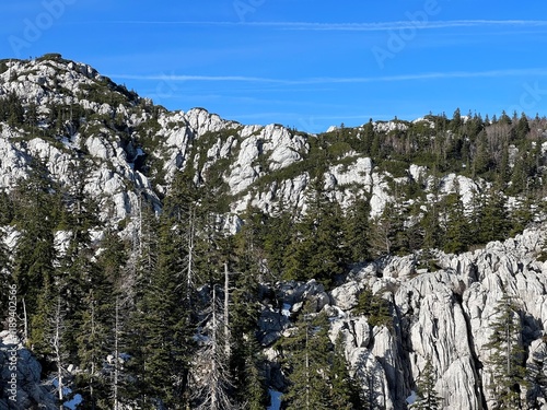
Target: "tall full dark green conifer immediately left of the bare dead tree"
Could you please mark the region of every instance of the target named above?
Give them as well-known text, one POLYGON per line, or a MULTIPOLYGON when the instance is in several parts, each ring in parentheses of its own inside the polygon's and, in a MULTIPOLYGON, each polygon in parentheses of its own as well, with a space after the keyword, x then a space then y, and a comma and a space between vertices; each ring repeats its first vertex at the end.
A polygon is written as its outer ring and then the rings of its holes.
MULTIPOLYGON (((133 389, 127 390, 130 398, 146 408, 155 403, 153 406, 183 409, 187 403, 193 342, 189 312, 181 303, 185 294, 176 279, 181 258, 172 222, 168 216, 161 220, 158 260, 147 266, 152 270, 142 278, 137 309, 129 321, 133 389)), ((144 254, 142 257, 148 259, 144 254)))

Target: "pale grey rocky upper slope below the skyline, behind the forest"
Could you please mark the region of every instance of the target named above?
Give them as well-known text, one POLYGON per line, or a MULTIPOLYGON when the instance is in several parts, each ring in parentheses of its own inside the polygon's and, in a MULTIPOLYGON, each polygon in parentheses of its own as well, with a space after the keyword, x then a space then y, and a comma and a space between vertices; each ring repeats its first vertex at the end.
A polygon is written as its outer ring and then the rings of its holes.
MULTIPOLYGON (((300 167, 315 139, 279 125, 244 126, 202 108, 187 113, 153 106, 112 83, 88 65, 57 55, 30 61, 4 60, 0 96, 16 95, 23 108, 36 107, 33 127, 2 122, 0 187, 10 188, 39 160, 54 179, 69 184, 75 159, 92 160, 85 190, 101 200, 103 219, 124 220, 136 213, 138 192, 159 203, 176 169, 188 164, 207 183, 220 174, 231 210, 248 206, 272 212, 282 200, 287 208, 304 207, 310 171, 300 167), (55 121, 51 119, 55 118, 55 121), (284 172, 284 173, 283 173, 284 172), (274 178, 265 176, 278 175, 274 178)), ((377 130, 400 127, 377 124, 377 130)), ((408 168, 411 178, 428 178, 420 166, 408 168)), ((447 177, 447 184, 456 176, 447 177)), ((459 176, 462 196, 476 188, 459 176)), ((371 214, 391 201, 389 173, 356 152, 344 152, 326 169, 325 188, 342 204, 356 195, 371 195, 371 214), (357 190, 356 190, 357 187, 357 190)))

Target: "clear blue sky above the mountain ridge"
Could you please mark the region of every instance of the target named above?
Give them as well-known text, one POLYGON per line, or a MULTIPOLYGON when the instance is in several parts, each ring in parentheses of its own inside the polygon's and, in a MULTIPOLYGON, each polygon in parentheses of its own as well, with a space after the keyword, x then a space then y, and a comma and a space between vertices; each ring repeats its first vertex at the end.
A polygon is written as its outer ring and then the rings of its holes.
POLYGON ((0 58, 60 52, 243 124, 547 115, 545 1, 4 0, 0 16, 0 58))

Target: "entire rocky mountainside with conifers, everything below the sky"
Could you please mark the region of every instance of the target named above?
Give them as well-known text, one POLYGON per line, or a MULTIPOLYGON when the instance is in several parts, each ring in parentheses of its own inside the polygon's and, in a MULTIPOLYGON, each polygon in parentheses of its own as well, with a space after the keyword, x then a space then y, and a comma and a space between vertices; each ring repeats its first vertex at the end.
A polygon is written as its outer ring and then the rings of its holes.
POLYGON ((510 115, 309 134, 1 60, 24 406, 540 408, 547 119, 510 115))

